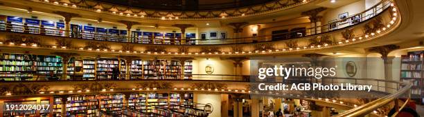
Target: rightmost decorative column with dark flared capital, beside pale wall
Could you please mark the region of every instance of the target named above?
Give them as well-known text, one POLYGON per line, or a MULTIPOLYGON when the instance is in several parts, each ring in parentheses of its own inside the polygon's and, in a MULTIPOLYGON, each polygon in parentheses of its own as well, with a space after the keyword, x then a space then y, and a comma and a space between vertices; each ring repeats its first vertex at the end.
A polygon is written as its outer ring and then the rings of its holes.
MULTIPOLYGON (((381 54, 381 58, 383 59, 383 63, 385 64, 385 80, 387 81, 393 81, 392 78, 392 60, 394 58, 394 56, 388 56, 390 52, 392 52, 393 50, 397 50, 399 49, 398 45, 382 45, 382 46, 378 46, 378 47, 371 47, 369 49, 369 52, 377 52, 381 54)), ((388 90, 390 88, 389 87, 390 83, 386 82, 385 87, 386 87, 386 92, 388 92, 388 90)))

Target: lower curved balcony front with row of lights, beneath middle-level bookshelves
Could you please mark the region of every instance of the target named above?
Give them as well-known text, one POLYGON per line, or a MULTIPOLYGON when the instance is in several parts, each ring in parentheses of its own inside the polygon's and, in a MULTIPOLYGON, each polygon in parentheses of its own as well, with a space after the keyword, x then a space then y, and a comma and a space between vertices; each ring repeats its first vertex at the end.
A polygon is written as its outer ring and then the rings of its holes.
POLYGON ((69 96, 83 94, 131 94, 137 92, 193 92, 197 94, 250 94, 257 96, 272 96, 284 98, 305 98, 319 103, 327 103, 349 109, 339 116, 365 116, 376 114, 387 115, 384 106, 401 110, 407 102, 396 98, 406 98, 409 101, 412 83, 400 81, 385 81, 372 78, 290 78, 279 81, 238 81, 238 80, 142 80, 142 81, 10 81, 0 83, 1 98, 35 97, 35 96, 69 96), (373 85, 371 92, 338 92, 338 91, 258 91, 258 83, 321 83, 325 85, 339 85, 351 83, 353 85, 373 85), (315 92, 315 93, 313 93, 315 92), (354 92, 354 93, 353 93, 354 92), (342 102, 339 98, 377 98, 370 103, 342 102), (404 104, 402 104, 404 103, 404 104), (403 105, 403 106, 400 106, 403 105))

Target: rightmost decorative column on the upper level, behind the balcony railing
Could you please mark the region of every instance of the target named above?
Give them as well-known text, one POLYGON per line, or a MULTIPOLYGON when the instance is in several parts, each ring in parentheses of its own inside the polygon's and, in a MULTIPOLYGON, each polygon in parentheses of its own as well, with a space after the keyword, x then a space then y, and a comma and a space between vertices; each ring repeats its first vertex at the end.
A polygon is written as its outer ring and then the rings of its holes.
POLYGON ((310 20, 310 32, 309 34, 318 34, 321 33, 321 16, 318 16, 319 12, 326 10, 327 8, 315 8, 313 10, 308 10, 302 12, 301 15, 308 16, 310 20), (319 28, 318 28, 319 27, 319 28))

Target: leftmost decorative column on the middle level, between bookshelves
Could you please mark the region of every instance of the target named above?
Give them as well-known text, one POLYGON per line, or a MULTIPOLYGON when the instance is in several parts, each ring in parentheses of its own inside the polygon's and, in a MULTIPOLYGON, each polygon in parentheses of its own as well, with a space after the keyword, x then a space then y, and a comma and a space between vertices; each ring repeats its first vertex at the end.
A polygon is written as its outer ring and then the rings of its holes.
POLYGON ((74 56, 80 56, 80 54, 71 53, 71 52, 53 52, 51 54, 55 54, 62 57, 62 80, 67 80, 69 59, 71 59, 74 56))

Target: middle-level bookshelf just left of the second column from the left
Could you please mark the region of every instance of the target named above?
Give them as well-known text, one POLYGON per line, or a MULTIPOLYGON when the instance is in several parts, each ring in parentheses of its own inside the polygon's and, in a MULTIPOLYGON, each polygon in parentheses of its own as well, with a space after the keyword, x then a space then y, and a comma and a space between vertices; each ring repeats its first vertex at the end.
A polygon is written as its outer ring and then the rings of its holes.
POLYGON ((96 67, 97 79, 112 79, 112 70, 119 62, 117 58, 98 58, 96 67))

